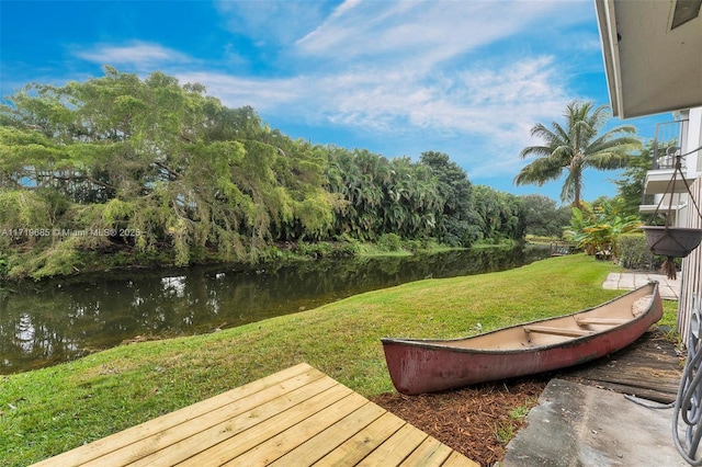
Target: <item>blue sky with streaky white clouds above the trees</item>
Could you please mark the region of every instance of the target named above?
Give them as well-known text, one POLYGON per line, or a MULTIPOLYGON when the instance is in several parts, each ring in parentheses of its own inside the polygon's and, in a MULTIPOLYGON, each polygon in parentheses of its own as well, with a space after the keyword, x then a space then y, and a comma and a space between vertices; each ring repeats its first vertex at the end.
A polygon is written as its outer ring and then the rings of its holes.
MULTIPOLYGON (((388 158, 446 152, 474 183, 514 186, 536 123, 571 100, 608 104, 592 0, 7 1, 0 93, 102 66, 200 82, 293 138, 388 158)), ((650 139, 664 114, 622 122, 650 139)), ((586 172, 584 198, 615 172, 586 172)))

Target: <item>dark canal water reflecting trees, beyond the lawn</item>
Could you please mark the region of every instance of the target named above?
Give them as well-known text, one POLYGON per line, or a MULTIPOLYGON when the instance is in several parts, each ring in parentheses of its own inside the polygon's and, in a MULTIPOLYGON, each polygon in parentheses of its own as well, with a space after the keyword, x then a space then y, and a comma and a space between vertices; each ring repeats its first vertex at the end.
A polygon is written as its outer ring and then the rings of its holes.
POLYGON ((548 249, 450 251, 286 266, 106 272, 0 289, 0 374, 75 360, 125 341, 193 335, 422 278, 502 271, 548 249))

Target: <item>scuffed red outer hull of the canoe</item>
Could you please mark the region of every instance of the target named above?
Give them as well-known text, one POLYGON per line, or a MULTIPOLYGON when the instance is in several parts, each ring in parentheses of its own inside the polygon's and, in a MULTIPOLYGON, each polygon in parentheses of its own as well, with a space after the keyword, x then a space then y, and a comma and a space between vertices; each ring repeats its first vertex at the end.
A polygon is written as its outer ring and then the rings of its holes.
MULTIPOLYGON (((564 339, 563 342, 548 345, 490 350, 472 349, 469 342, 476 337, 445 341, 383 339, 390 378, 399 392, 418 395, 550 372, 607 356, 636 341, 661 318, 663 303, 658 294, 658 286, 654 283, 646 287, 630 293, 642 295, 642 293, 649 292, 652 295, 650 305, 634 319, 601 332, 564 339), (646 287, 650 287, 650 291, 643 291, 646 287)), ((630 294, 608 304, 625 299, 630 294)), ((595 309, 597 308, 590 310, 595 309)), ((580 311, 578 315, 586 316, 590 310, 580 311)), ((499 337, 499 333, 505 331, 514 333, 517 328, 523 329, 524 326, 534 323, 547 324, 553 320, 519 324, 480 334, 480 337, 499 337)))

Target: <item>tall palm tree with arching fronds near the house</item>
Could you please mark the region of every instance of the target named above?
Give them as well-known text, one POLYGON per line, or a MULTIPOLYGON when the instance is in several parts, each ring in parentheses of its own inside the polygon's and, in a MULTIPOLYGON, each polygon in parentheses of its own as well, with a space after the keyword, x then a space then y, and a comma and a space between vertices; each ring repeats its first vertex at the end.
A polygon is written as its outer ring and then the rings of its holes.
POLYGON ((568 171, 561 191, 561 201, 580 205, 582 192, 582 171, 587 168, 613 170, 626 167, 630 152, 641 147, 636 138, 636 128, 631 125, 618 126, 599 134, 609 118, 609 106, 600 105, 592 110, 591 102, 573 101, 566 113, 566 127, 551 124, 552 129, 536 124, 531 135, 541 138, 544 146, 529 146, 522 149, 520 157, 536 159, 525 166, 514 178, 516 185, 557 180, 564 169, 568 171))

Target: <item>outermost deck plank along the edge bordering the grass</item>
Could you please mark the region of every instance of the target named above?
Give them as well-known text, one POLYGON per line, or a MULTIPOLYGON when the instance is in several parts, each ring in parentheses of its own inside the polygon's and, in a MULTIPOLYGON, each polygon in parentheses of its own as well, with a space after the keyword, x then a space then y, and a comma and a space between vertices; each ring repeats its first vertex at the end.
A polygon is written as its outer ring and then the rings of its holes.
POLYGON ((267 378, 258 379, 245 386, 231 389, 219 396, 203 400, 202 402, 188 406, 185 408, 167 413, 157 419, 133 426, 122 432, 93 441, 92 443, 82 446, 79 449, 68 451, 58 456, 50 457, 46 460, 35 464, 35 466, 50 465, 52 467, 68 467, 84 464, 100 456, 104 456, 105 454, 115 451, 120 446, 136 443, 145 437, 156 435, 167 428, 186 422, 196 417, 201 417, 213 410, 219 409, 225 405, 233 403, 241 398, 248 397, 251 394, 262 391, 272 386, 283 385, 285 384, 285 381, 291 379, 294 380, 295 378, 319 379, 324 376, 324 373, 319 372, 316 368, 313 368, 305 363, 295 365, 282 372, 275 373, 267 378))

